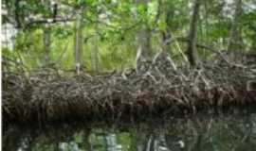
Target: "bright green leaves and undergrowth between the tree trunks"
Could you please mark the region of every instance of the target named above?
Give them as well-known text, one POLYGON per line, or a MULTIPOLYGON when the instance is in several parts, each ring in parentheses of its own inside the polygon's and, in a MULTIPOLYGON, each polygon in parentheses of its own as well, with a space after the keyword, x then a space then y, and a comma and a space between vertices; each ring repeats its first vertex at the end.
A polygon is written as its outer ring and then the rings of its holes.
MULTIPOLYGON (((3 1, 8 10, 3 15, 3 24, 22 25, 15 38, 14 49, 4 48, 3 55, 11 59, 22 59, 29 69, 46 64, 44 30, 50 28, 50 62, 62 69, 75 67, 75 21, 46 24, 53 19, 51 1, 3 1), (31 20, 32 18, 32 20, 31 20), (31 24, 31 21, 43 20, 43 24, 31 24)), ((252 4, 251 0, 244 2, 252 4)), ((226 0, 204 1, 198 27, 199 42, 227 47, 232 8, 226 0)), ((172 36, 186 37, 191 20, 192 1, 190 0, 61 0, 58 1, 60 19, 74 19, 76 10, 82 8, 82 63, 94 70, 95 49, 101 70, 124 69, 135 64, 139 31, 146 25, 151 32, 151 47, 155 52, 162 45, 162 31, 172 32, 172 36), (72 18, 73 16, 73 18, 72 18), (96 28, 97 26, 97 28, 96 28), (94 39, 97 38, 98 42, 94 39)), ((256 49, 256 13, 255 8, 243 9, 239 23, 245 50, 256 49)), ((179 54, 179 48, 185 50, 184 42, 172 43, 172 53, 179 54)), ((204 53, 205 54, 205 53, 204 53)), ((178 60, 177 60, 178 61, 178 60)))

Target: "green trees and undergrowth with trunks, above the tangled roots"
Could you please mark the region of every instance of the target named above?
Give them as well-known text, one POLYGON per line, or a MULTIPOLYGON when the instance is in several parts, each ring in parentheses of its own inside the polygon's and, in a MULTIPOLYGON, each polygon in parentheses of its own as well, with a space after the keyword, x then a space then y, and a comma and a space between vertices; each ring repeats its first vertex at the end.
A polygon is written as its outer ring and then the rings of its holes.
POLYGON ((125 69, 139 49, 149 58, 167 51, 177 63, 184 54, 212 58, 208 49, 256 50, 253 0, 4 0, 2 8, 3 27, 15 33, 3 56, 27 71, 125 69))

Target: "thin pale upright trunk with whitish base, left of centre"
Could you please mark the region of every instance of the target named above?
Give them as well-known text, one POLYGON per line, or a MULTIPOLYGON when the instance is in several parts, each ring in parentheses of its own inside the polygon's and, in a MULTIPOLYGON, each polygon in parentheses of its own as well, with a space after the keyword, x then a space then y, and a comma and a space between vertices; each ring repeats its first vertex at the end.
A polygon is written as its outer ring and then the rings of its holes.
POLYGON ((79 10, 76 16, 75 25, 75 62, 77 75, 80 75, 82 66, 82 9, 79 10))

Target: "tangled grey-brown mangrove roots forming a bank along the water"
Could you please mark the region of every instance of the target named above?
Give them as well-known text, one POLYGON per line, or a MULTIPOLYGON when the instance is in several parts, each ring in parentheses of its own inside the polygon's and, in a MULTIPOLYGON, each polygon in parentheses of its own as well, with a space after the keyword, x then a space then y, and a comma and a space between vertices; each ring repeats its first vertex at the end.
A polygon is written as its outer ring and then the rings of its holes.
POLYGON ((4 120, 44 122, 256 104, 255 64, 205 61, 197 68, 177 67, 168 55, 158 54, 139 65, 100 76, 3 71, 4 120))

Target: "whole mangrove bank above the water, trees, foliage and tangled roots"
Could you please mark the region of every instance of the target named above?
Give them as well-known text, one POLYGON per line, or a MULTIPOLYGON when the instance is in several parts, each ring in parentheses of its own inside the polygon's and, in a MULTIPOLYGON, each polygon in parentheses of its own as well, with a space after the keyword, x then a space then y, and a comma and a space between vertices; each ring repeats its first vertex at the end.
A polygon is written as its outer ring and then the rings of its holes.
POLYGON ((3 8, 15 31, 3 45, 6 119, 256 104, 253 0, 5 0, 3 8))

